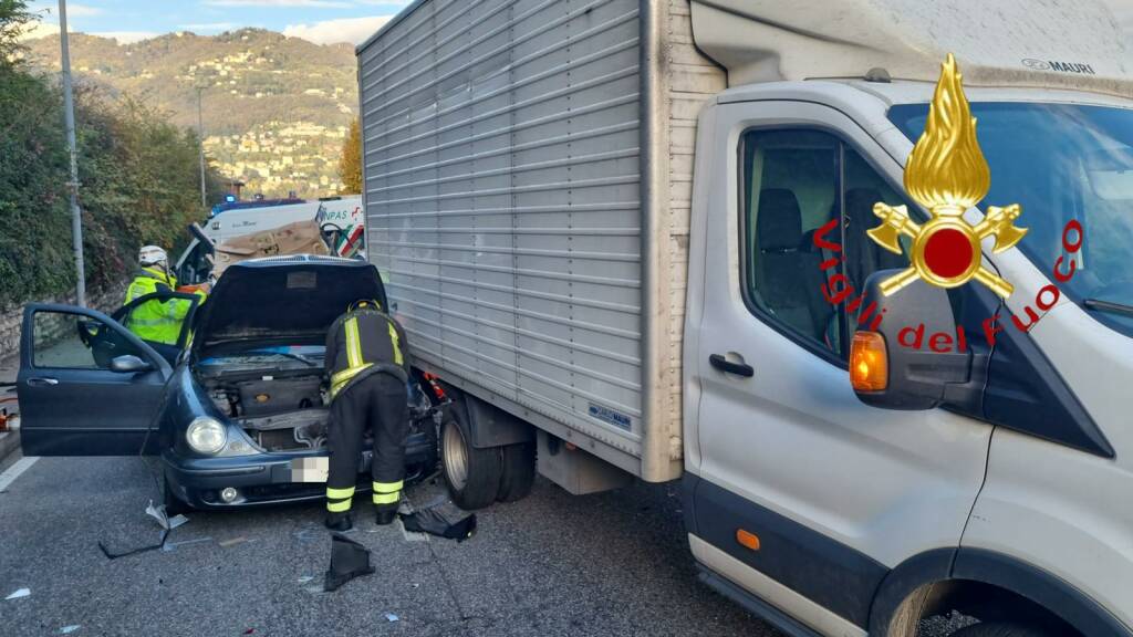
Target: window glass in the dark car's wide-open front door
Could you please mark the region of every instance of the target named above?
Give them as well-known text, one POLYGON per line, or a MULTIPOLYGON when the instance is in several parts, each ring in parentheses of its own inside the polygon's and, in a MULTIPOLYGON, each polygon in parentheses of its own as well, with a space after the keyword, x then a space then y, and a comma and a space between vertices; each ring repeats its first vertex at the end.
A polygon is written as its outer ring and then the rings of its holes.
POLYGON ((144 357, 142 350, 96 318, 41 309, 32 318, 35 367, 105 370, 119 356, 144 357))

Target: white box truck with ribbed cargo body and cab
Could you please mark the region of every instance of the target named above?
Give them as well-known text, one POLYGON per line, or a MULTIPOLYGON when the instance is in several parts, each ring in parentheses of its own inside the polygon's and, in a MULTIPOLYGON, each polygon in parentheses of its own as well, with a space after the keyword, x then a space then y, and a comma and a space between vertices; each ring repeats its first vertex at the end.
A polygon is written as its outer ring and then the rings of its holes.
POLYGON ((787 634, 1131 635, 1102 6, 418 0, 357 52, 369 258, 458 503, 681 478, 702 579, 787 634), (934 207, 906 159, 969 114, 990 181, 934 207), (879 291, 911 263, 951 289, 879 291))

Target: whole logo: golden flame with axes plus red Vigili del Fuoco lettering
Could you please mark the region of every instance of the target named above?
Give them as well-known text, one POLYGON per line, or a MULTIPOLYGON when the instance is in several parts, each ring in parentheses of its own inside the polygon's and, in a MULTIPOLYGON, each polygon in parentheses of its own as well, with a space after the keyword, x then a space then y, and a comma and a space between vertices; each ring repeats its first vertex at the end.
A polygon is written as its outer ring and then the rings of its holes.
MULTIPOLYGON (((909 216, 904 205, 891 206, 884 202, 874 204, 874 214, 881 223, 867 231, 870 239, 895 254, 904 254, 900 241, 902 235, 911 239, 910 265, 881 281, 879 288, 883 296, 895 295, 918 279, 945 289, 963 286, 974 279, 1002 298, 1010 297, 1014 286, 983 266, 980 243, 994 237, 991 252, 995 254, 1014 247, 1026 235, 1025 228, 1015 226, 1022 207, 1019 204, 1003 207, 989 205, 983 219, 976 224, 963 218, 969 207, 987 195, 991 186, 991 171, 976 138, 976 118, 972 117, 964 95, 963 76, 951 53, 942 65, 925 133, 905 163, 904 185, 909 195, 929 210, 931 219, 917 223, 909 216)), ((844 258, 841 254, 842 246, 826 238, 837 223, 838 220, 833 219, 813 235, 816 246, 837 254, 819 265, 824 272, 844 258)), ((1082 224, 1077 220, 1070 221, 1062 233, 1064 254, 1053 267, 1055 280, 1066 282, 1074 275, 1074 255, 1081 249, 1082 241, 1082 224)), ((855 294, 849 278, 840 272, 829 277, 821 291, 826 301, 834 306, 855 294)), ((1034 305, 1046 313, 1060 296, 1056 286, 1043 286, 1036 295, 1034 305)), ((849 300, 846 312, 857 312, 864 300, 864 294, 849 300)), ((1023 332, 1033 328, 1041 317, 1030 305, 1024 307, 1024 312, 1025 322, 1011 314, 1012 323, 1023 332)), ((871 331, 876 331, 884 314, 885 309, 877 312, 876 304, 870 303, 858 315, 858 324, 868 324, 871 331)), ((995 345, 996 334, 1005 329, 999 315, 996 312, 983 321, 982 329, 989 345, 995 345)), ((923 325, 905 326, 898 332, 897 340, 904 347, 920 349, 926 340, 923 331, 923 325)), ((957 326, 955 340, 952 336, 946 337, 938 339, 934 334, 934 338, 928 339, 929 349, 938 353, 953 349, 965 351, 966 337, 962 325, 957 326)))

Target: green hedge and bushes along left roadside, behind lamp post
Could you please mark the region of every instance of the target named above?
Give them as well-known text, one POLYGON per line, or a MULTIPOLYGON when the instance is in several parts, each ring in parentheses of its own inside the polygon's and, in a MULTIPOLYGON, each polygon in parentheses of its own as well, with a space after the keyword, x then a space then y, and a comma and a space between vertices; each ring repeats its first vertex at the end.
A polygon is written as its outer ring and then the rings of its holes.
MULTIPOLYGON (((19 61, 12 36, 29 19, 24 0, 0 0, 3 308, 66 294, 75 283, 62 95, 53 75, 19 61)), ((204 219, 201 144, 191 130, 129 97, 80 86, 75 102, 87 284, 100 288, 134 270, 138 246, 174 249, 186 240, 185 227, 204 219)), ((215 170, 210 190, 219 201, 215 170)))

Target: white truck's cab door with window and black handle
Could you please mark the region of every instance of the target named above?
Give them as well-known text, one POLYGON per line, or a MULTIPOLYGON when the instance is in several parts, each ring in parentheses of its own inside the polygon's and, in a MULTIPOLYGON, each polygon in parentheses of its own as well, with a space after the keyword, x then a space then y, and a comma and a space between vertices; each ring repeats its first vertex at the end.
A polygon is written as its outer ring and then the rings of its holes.
POLYGON ((701 390, 693 552, 780 608, 817 604, 821 631, 863 629, 888 569, 959 545, 991 427, 875 409, 851 390, 847 334, 864 308, 838 292, 908 263, 864 235, 875 202, 906 203, 897 162, 818 104, 724 104, 717 117, 698 146, 710 142, 710 167, 697 165, 710 182, 693 253, 705 264, 689 363, 701 390))

